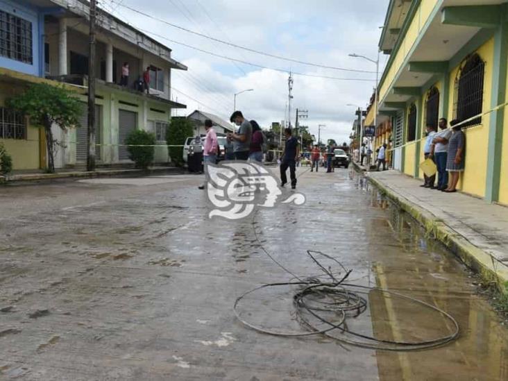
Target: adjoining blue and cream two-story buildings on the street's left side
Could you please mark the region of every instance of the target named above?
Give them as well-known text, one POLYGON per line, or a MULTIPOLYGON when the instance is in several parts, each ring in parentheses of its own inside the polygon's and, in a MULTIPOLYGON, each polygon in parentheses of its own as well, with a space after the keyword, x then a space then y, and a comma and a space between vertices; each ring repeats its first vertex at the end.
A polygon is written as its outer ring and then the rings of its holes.
MULTIPOLYGON (((89 3, 85 0, 0 0, 0 105, 29 83, 66 83, 86 110, 88 81, 89 3)), ((186 70, 171 58, 171 49, 104 10, 96 31, 96 160, 98 164, 130 162, 124 139, 142 128, 165 144, 173 108, 171 69, 186 70), (128 78, 121 82, 127 64, 128 78), (149 71, 148 93, 140 87, 149 71)), ((15 169, 45 166, 44 134, 26 118, 1 108, 0 141, 15 169)), ((54 128, 58 139, 56 167, 84 164, 87 114, 67 132, 54 128)), ((155 161, 169 160, 167 148, 156 147, 155 161)))

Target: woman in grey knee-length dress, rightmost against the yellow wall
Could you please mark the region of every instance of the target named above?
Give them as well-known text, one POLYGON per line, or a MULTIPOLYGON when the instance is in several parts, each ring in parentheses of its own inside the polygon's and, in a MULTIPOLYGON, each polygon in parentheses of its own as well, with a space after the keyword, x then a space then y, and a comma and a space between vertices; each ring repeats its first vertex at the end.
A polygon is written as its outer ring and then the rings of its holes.
POLYGON ((446 158, 446 170, 449 172, 450 184, 443 192, 452 193, 457 192, 457 183, 459 183, 459 176, 464 172, 464 155, 466 151, 466 135, 461 130, 461 126, 456 126, 459 123, 457 120, 450 121, 452 126, 452 136, 448 142, 448 151, 446 158))

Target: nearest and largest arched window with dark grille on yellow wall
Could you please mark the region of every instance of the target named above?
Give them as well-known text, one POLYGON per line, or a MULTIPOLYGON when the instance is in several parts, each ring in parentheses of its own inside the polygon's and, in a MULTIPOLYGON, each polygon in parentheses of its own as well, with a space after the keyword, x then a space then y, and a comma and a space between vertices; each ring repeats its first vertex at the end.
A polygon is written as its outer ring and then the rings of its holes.
MULTIPOLYGON (((464 121, 482 113, 484 74, 485 62, 476 53, 462 62, 455 78, 453 119, 464 121)), ((481 123, 482 117, 477 117, 462 127, 481 123)))

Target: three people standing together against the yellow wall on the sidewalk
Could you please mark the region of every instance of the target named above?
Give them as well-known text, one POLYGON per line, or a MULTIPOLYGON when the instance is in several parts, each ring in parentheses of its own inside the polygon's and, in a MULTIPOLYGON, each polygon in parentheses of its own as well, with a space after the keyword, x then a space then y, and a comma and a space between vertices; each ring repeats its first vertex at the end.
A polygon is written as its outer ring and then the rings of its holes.
POLYGON ((464 155, 466 149, 466 135, 457 126, 459 121, 450 121, 451 130, 448 128, 448 121, 445 118, 439 119, 439 132, 437 127, 427 124, 427 138, 423 153, 425 159, 432 160, 437 167, 436 175, 424 175, 425 182, 421 187, 437 189, 441 192, 457 192, 457 183, 460 173, 464 171, 464 155))

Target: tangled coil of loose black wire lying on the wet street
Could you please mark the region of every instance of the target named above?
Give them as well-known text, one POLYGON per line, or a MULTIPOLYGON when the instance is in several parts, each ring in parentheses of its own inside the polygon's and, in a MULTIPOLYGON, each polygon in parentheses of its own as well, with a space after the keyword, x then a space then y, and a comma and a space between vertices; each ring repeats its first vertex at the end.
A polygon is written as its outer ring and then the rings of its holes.
POLYGON ((346 269, 335 257, 322 253, 321 251, 307 250, 307 255, 310 257, 312 262, 314 262, 314 264, 319 267, 322 273, 317 276, 310 276, 307 278, 297 276, 292 271, 287 269, 283 264, 281 264, 278 260, 276 260, 273 255, 271 255, 271 253, 269 253, 269 251, 267 251, 263 246, 255 225, 256 216, 257 212, 254 214, 252 226, 255 234, 255 239, 259 244, 259 247, 273 262, 275 262, 282 270, 293 276, 297 281, 289 280, 288 282, 274 282, 266 285, 261 285, 255 289, 246 291, 244 294, 239 296, 235 300, 233 310, 237 316, 237 319, 247 327, 268 335, 276 335, 282 337, 325 335, 326 337, 335 339, 343 344, 350 344, 352 346, 359 346, 362 348, 369 348, 374 350, 425 350, 443 346, 457 339, 459 335, 459 323, 457 323, 453 316, 447 312, 439 309, 434 305, 430 305, 423 300, 412 298, 411 296, 400 294, 395 291, 390 291, 388 289, 382 289, 379 287, 346 283, 346 280, 353 270, 346 269), (323 265, 320 257, 332 261, 334 265, 339 267, 339 271, 334 271, 332 266, 326 267, 323 265), (276 287, 296 288, 296 291, 294 291, 294 294, 291 296, 293 300, 294 312, 298 321, 300 322, 300 325, 302 325, 303 328, 306 328, 306 330, 298 332, 273 330, 251 323, 251 321, 248 321, 242 317, 240 308, 242 307, 242 301, 246 299, 246 296, 256 294, 262 289, 270 289, 276 287), (429 339, 387 340, 378 339, 369 335, 363 335, 362 333, 351 330, 348 328, 348 319, 355 319, 369 309, 369 302, 366 298, 366 295, 371 294, 372 292, 384 294, 391 299, 406 300, 409 303, 420 305, 421 307, 425 307, 427 310, 440 314, 447 321, 452 323, 452 332, 446 335, 432 337, 429 339), (330 315, 332 315, 333 318, 330 318, 330 315), (311 316, 311 318, 309 316, 311 316), (319 325, 323 325, 323 328, 319 328, 316 325, 316 322, 318 322, 317 324, 319 325))

